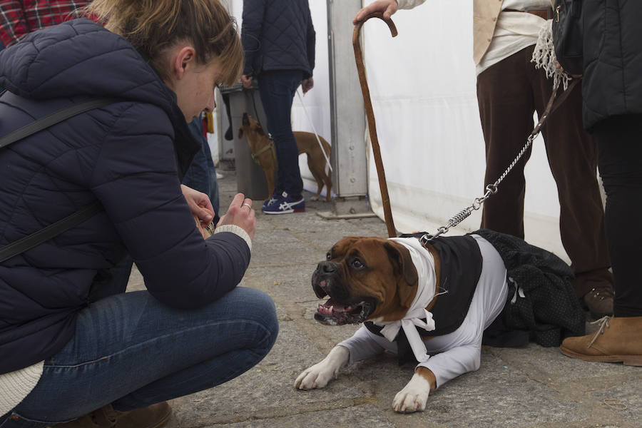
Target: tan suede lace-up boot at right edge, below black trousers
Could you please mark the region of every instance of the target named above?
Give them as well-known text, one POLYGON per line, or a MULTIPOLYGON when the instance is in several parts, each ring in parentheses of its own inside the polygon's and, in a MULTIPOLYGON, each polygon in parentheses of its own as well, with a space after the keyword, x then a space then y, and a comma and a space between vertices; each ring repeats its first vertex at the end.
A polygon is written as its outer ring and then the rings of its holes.
POLYGON ((567 337, 562 354, 585 361, 642 366, 642 317, 603 317, 592 335, 567 337))

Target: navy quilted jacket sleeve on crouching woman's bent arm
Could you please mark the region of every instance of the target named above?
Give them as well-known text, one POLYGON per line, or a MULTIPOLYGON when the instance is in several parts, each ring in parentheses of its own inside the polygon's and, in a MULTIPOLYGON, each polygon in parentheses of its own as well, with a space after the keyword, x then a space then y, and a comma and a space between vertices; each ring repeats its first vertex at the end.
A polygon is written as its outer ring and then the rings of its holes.
POLYGON ((141 103, 119 116, 93 168, 92 191, 149 292, 172 307, 200 307, 238 285, 250 249, 234 233, 208 240, 198 233, 180 191, 172 128, 150 123, 159 116, 160 109, 141 103))

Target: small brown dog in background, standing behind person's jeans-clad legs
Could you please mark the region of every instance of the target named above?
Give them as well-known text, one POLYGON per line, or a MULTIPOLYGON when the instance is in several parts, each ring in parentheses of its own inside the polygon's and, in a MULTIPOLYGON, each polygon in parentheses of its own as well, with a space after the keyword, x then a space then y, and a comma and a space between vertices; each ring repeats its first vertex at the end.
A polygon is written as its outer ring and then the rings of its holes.
MULTIPOLYGON (((299 154, 305 153, 307 155, 307 167, 310 168, 312 177, 317 181, 317 194, 311 199, 319 199, 323 185, 325 185, 327 190, 325 200, 330 201, 332 175, 330 173, 330 168, 328 168, 326 164, 325 156, 323 156, 323 152, 321 151, 315 134, 302 131, 294 131, 293 134, 297 141, 299 154)), ((263 168, 263 171, 265 172, 267 190, 270 191, 271 195, 274 193, 274 180, 277 169, 274 141, 270 140, 260 124, 255 121, 252 116, 248 115, 248 113, 243 113, 242 126, 238 129, 238 138, 243 138, 243 135, 245 135, 245 138, 248 140, 248 144, 250 145, 252 158, 260 165, 261 168, 263 168)), ((319 139, 323 145, 323 151, 325 151, 327 158, 332 161, 330 143, 325 141, 323 137, 319 137, 319 139)))

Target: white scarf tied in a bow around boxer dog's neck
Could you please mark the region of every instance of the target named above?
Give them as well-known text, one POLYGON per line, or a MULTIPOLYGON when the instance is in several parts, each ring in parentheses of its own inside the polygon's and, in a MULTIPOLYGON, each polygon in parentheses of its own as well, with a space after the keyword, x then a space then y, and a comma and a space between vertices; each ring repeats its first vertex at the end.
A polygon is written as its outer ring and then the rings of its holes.
POLYGON ((417 276, 419 277, 419 281, 417 282, 417 295, 414 296, 412 305, 410 305, 408 312, 406 312, 402 320, 373 321, 372 323, 374 325, 384 326, 381 334, 390 342, 397 337, 399 328, 403 328, 408 338, 408 343, 414 353, 414 357, 417 358, 417 361, 424 362, 429 359, 430 355, 427 354, 426 345, 424 345, 424 341, 419 336, 419 332, 417 332, 417 328, 415 327, 420 327, 427 331, 434 330, 432 313, 426 310, 426 307, 435 296, 437 275, 434 272, 434 258, 432 258, 432 254, 419 243, 417 238, 389 239, 394 240, 409 250, 410 258, 412 258, 412 263, 414 263, 414 267, 417 269, 417 276), (422 321, 422 318, 426 318, 426 322, 422 321))

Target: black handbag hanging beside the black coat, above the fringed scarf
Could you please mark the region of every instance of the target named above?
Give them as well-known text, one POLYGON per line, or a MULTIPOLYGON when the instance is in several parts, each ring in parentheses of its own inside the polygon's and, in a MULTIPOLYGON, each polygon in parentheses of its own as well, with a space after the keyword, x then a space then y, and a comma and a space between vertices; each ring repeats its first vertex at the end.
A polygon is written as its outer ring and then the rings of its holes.
POLYGON ((557 61, 569 74, 582 74, 582 1, 555 0, 553 46, 557 61))

